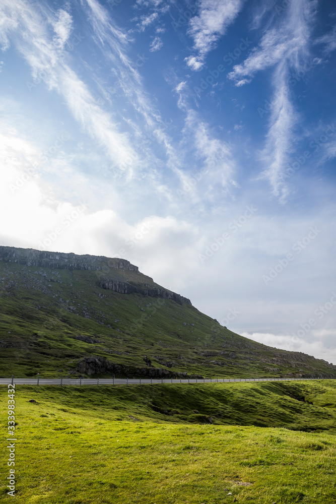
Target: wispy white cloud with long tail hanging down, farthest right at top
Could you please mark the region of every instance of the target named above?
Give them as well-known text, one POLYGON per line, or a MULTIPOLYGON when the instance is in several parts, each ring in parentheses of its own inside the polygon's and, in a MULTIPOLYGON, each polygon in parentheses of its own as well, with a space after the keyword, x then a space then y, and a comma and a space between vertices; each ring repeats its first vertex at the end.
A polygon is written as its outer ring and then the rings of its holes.
POLYGON ((291 103, 289 72, 298 72, 307 61, 315 8, 315 2, 308 0, 300 0, 299 5, 291 4, 282 13, 282 18, 276 19, 277 26, 267 29, 259 46, 228 75, 239 87, 248 84, 257 72, 275 67, 268 133, 260 155, 265 165, 261 176, 270 181, 274 195, 283 202, 289 193, 284 169, 292 150, 293 131, 298 120, 298 113, 291 103))

